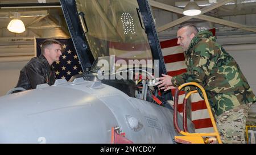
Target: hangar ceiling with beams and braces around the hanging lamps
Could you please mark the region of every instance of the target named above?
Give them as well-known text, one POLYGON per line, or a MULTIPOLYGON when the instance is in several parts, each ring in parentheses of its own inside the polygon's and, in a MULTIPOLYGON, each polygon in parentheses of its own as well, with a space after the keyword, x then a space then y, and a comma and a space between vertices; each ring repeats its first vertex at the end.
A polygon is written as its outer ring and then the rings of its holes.
MULTIPOLYGON (((102 0, 98 0, 102 1, 102 0)), ((216 28, 219 35, 255 34, 256 0, 203 0, 195 1, 203 14, 184 16, 188 0, 149 0, 156 20, 159 36, 175 36, 177 25, 189 22, 202 28, 216 28)), ((0 1, 0 45, 15 41, 23 42, 34 37, 69 37, 65 19, 58 0, 1 0, 0 1), (13 33, 7 25, 20 13, 26 31, 13 33)))

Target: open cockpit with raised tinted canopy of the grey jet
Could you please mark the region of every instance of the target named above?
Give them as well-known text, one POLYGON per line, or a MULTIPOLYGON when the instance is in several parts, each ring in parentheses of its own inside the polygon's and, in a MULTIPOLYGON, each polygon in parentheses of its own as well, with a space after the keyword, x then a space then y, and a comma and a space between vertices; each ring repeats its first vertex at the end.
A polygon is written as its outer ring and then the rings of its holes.
POLYGON ((148 15, 150 10, 139 7, 140 3, 144 2, 76 0, 76 7, 63 7, 84 70, 69 81, 77 77, 100 80, 144 100, 148 100, 147 92, 154 94, 155 78, 166 74, 166 69, 154 19, 148 15), (76 15, 71 14, 72 9, 77 10, 76 15), (73 31, 74 25, 80 30, 73 31))

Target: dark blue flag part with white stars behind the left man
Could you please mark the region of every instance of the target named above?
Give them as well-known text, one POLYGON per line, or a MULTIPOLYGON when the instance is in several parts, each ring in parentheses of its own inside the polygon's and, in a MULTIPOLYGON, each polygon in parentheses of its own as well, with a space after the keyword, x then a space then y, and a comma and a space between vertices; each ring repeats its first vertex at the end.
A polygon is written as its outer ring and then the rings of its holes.
MULTIPOLYGON (((43 41, 46 39, 36 38, 36 56, 40 56, 41 47, 43 41)), ((73 45, 72 39, 55 39, 63 44, 63 54, 60 56, 60 61, 54 62, 52 64, 55 70, 56 79, 65 78, 67 81, 76 75, 82 73, 82 68, 77 56, 75 47, 73 45)))

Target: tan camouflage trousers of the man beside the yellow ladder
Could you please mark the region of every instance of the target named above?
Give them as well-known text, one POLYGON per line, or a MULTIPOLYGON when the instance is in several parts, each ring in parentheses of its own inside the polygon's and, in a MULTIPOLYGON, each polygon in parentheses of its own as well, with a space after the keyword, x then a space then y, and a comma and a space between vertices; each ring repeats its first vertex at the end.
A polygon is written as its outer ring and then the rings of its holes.
POLYGON ((228 110, 216 118, 222 143, 245 144, 245 127, 251 103, 228 110))

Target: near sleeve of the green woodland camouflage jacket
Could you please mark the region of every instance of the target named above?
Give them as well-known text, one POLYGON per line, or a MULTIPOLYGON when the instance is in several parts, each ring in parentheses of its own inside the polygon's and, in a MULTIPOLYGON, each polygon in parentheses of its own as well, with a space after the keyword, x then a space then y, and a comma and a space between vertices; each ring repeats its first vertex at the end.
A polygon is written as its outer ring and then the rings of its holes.
POLYGON ((205 85, 205 78, 210 74, 220 51, 215 42, 209 39, 201 39, 193 48, 189 48, 186 54, 187 72, 172 77, 172 83, 178 87, 186 82, 196 82, 205 85))

